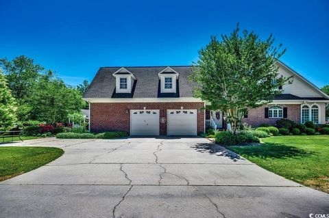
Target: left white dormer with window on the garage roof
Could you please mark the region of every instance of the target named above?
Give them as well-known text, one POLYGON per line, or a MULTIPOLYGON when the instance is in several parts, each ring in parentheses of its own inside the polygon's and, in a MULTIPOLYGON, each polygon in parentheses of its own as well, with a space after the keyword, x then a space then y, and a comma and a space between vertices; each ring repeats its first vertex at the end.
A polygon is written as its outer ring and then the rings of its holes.
POLYGON ((115 90, 117 93, 131 93, 136 77, 125 68, 120 68, 112 74, 115 77, 115 90))

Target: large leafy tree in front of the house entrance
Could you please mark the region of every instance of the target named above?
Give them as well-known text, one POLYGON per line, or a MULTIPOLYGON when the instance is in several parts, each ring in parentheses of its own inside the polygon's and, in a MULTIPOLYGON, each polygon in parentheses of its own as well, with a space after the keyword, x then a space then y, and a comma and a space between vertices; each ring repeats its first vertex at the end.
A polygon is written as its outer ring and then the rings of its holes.
POLYGON ((265 105, 281 94, 280 85, 290 78, 279 77, 274 62, 284 53, 269 36, 261 40, 254 32, 240 32, 239 25, 221 40, 211 37, 199 51, 191 79, 197 83, 194 94, 221 110, 232 131, 239 129, 247 109, 265 105))

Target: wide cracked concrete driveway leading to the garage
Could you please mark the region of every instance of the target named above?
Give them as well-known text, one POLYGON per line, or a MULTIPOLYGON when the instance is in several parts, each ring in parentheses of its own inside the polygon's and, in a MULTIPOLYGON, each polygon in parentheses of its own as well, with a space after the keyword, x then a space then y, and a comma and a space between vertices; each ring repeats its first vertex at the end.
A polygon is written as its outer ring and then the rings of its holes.
POLYGON ((329 195, 199 138, 35 139, 59 159, 0 182, 0 217, 309 217, 329 195))

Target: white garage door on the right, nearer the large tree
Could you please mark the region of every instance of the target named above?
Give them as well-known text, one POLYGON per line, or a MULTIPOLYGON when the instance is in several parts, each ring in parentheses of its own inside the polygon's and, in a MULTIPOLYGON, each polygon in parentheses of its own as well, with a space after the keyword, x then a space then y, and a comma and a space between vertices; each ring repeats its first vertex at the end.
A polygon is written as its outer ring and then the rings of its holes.
POLYGON ((167 135, 197 135, 197 110, 168 110, 167 135))

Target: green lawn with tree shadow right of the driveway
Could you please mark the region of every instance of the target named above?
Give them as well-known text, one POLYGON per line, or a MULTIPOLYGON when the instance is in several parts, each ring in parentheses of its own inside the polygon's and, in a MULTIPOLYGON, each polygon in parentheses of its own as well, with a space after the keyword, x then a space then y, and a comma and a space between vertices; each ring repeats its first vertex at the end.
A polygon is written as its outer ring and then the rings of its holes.
POLYGON ((276 136, 261 146, 232 146, 240 154, 280 176, 329 193, 329 136, 276 136))

